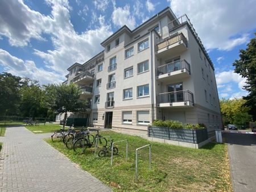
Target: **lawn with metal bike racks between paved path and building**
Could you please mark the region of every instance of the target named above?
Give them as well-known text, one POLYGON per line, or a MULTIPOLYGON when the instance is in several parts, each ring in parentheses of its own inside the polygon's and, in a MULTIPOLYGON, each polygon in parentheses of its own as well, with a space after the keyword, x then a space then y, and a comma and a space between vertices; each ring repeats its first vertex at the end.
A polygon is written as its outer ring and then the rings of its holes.
POLYGON ((114 191, 232 191, 224 144, 210 143, 201 149, 191 149, 113 131, 101 132, 101 135, 111 135, 114 141, 128 139, 128 161, 125 160, 125 143, 117 145, 119 153, 114 156, 111 167, 110 156, 94 156, 94 148, 77 155, 62 142, 46 141, 114 191), (135 182, 135 149, 146 144, 152 147, 152 169, 148 170, 148 149, 142 149, 139 151, 139 178, 135 182))

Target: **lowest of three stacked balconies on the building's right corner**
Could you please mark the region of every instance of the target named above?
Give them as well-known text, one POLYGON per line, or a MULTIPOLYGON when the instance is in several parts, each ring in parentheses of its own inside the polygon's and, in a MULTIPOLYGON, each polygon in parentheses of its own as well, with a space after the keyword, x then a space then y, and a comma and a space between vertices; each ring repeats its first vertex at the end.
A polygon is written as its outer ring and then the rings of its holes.
POLYGON ((193 107, 193 93, 188 90, 160 93, 157 95, 158 107, 193 107))

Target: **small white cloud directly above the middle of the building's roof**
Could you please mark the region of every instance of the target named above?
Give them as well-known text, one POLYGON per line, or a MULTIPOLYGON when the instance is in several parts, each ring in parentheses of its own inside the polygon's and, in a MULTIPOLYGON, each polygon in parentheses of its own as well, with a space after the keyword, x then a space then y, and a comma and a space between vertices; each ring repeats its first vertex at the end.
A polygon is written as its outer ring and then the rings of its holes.
POLYGON ((135 28, 135 18, 134 15, 131 15, 130 6, 126 5, 125 7, 115 7, 112 13, 112 22, 117 27, 122 27, 126 24, 131 30, 135 28))

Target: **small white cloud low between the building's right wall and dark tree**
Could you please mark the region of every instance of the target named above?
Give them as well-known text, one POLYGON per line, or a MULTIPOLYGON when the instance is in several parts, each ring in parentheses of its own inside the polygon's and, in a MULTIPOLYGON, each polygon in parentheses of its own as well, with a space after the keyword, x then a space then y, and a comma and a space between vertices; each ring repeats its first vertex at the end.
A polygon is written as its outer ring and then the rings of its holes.
POLYGON ((224 71, 221 73, 216 73, 216 82, 218 86, 222 86, 223 84, 227 84, 229 82, 236 82, 238 87, 243 90, 243 86, 246 85, 246 78, 243 78, 238 73, 234 73, 233 70, 224 71))

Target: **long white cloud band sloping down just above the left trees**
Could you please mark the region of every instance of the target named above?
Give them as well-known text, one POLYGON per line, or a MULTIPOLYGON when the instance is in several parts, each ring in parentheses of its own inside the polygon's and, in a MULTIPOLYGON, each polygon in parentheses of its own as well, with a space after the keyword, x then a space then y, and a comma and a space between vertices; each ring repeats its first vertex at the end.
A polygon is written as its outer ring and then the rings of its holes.
POLYGON ((3 66, 5 72, 9 72, 16 76, 28 77, 33 80, 38 80, 40 84, 60 83, 64 80, 62 74, 37 68, 34 61, 23 61, 18 57, 10 55, 9 52, 0 49, 0 65, 3 66))

